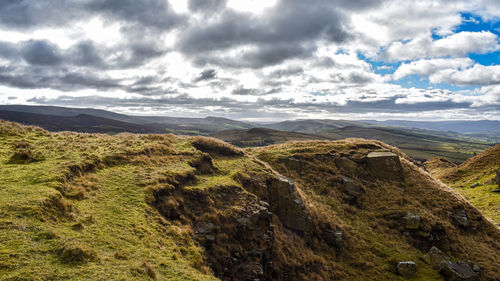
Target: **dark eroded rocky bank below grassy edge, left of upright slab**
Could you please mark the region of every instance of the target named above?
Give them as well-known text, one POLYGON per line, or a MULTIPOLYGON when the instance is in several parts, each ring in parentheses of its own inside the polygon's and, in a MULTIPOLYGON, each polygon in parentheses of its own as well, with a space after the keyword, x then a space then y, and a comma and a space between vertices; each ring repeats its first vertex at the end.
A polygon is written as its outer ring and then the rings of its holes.
POLYGON ((215 276, 222 280, 265 279, 272 264, 275 233, 266 202, 236 186, 177 187, 158 195, 154 204, 166 218, 191 225, 215 276), (168 208, 163 205, 175 205, 177 216, 165 212, 168 208))

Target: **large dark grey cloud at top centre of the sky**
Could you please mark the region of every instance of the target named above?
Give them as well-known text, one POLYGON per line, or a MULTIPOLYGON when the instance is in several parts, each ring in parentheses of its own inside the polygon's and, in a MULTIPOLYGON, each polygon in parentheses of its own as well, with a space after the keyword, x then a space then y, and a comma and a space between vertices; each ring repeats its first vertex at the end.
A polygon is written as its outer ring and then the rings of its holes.
POLYGON ((214 21, 196 22, 179 38, 177 49, 197 64, 258 68, 310 56, 316 40, 349 38, 344 17, 329 1, 282 0, 263 15, 226 10, 214 21), (220 52, 240 48, 236 54, 220 52))

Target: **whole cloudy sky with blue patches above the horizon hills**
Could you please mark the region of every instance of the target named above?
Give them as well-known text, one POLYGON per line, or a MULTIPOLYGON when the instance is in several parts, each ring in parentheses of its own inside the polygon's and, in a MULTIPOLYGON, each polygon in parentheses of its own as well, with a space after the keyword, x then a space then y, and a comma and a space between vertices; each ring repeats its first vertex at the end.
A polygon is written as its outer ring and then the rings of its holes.
POLYGON ((0 0, 0 104, 500 120, 497 0, 0 0))

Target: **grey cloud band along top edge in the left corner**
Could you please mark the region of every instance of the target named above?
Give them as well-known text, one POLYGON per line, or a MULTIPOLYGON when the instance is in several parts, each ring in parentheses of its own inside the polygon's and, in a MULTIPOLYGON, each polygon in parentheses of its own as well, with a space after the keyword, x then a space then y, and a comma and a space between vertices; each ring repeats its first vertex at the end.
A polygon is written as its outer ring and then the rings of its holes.
POLYGON ((0 25, 15 29, 54 27, 95 16, 162 30, 183 21, 164 0, 0 1, 0 11, 0 25))

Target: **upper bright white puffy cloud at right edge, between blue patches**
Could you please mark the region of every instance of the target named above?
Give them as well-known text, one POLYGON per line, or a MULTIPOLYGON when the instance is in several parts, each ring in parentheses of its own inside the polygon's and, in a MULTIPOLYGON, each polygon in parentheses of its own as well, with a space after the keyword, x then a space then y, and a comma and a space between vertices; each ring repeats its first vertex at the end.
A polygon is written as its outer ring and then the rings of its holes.
POLYGON ((489 31, 463 31, 434 41, 430 36, 425 36, 407 43, 394 42, 382 53, 382 57, 390 61, 463 57, 469 53, 484 54, 499 49, 496 34, 489 31))

